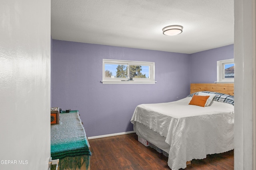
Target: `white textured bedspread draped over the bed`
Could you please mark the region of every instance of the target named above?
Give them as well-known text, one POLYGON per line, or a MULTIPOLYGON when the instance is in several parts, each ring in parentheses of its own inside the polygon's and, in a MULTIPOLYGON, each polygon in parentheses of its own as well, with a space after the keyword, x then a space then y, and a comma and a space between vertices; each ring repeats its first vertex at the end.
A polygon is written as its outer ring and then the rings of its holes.
POLYGON ((138 105, 134 121, 166 137, 170 145, 168 166, 186 168, 186 161, 234 149, 234 106, 212 101, 209 107, 188 105, 191 98, 176 102, 138 105))

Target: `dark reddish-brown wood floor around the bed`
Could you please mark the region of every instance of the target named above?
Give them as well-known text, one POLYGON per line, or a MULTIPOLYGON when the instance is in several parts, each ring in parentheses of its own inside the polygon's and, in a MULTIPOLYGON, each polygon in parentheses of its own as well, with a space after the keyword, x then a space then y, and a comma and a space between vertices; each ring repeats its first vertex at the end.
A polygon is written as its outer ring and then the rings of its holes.
MULTIPOLYGON (((168 158, 156 150, 145 147, 135 133, 99 139, 90 139, 91 170, 170 170, 168 158)), ((192 160, 186 170, 233 170, 233 150, 207 155, 192 160)), ((182 169, 181 169, 182 170, 182 169)))

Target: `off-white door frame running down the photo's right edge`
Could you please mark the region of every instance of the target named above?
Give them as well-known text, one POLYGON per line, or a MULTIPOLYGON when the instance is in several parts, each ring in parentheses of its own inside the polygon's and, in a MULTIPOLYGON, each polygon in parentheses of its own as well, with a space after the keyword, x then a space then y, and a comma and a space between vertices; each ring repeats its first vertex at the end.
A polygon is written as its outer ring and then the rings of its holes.
POLYGON ((234 169, 256 170, 256 0, 234 2, 234 169))

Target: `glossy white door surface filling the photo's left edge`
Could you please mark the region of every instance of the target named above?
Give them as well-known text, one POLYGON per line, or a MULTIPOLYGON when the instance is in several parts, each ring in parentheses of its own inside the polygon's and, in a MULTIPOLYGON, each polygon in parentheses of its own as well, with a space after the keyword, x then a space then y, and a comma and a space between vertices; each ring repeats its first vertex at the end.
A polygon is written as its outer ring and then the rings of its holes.
POLYGON ((0 1, 0 170, 47 170, 50 0, 0 1))

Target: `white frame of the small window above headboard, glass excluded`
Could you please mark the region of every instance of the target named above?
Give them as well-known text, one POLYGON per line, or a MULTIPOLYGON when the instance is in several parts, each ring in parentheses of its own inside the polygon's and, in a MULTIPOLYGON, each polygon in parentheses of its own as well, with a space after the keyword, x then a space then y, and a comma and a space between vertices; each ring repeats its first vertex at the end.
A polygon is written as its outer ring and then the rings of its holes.
POLYGON ((234 83, 234 78, 225 78, 225 64, 234 64, 234 59, 217 61, 216 83, 234 83))

